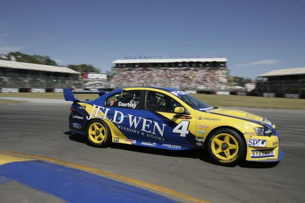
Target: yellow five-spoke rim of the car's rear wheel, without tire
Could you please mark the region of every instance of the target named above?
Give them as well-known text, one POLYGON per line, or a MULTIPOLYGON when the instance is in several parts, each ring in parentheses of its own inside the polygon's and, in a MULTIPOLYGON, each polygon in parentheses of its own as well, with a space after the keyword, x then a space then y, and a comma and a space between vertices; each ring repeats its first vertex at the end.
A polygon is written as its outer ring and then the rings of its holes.
POLYGON ((101 123, 94 122, 88 128, 88 137, 93 143, 100 144, 107 139, 107 129, 101 123))

